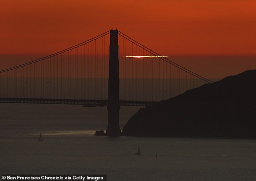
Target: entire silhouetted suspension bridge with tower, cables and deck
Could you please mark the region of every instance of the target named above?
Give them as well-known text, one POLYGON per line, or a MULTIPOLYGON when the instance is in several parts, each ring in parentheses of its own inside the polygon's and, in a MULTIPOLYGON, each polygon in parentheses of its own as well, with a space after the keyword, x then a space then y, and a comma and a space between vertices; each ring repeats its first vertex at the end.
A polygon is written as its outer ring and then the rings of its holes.
POLYGON ((107 106, 119 135, 120 106, 151 106, 212 81, 110 30, 55 54, 0 71, 0 103, 107 106))

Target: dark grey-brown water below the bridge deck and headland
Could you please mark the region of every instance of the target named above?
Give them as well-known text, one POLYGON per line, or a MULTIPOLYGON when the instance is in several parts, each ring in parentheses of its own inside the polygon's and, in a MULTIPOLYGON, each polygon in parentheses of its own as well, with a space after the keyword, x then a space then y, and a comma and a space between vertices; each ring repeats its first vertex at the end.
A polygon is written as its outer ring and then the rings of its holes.
MULTIPOLYGON (((122 107, 123 127, 138 107, 122 107)), ((94 136, 107 109, 0 104, 0 174, 106 174, 108 181, 255 181, 256 140, 94 136), (38 141, 40 132, 44 141, 38 141), (138 147, 141 155, 134 155, 138 147), (157 157, 155 156, 157 154, 157 157)))

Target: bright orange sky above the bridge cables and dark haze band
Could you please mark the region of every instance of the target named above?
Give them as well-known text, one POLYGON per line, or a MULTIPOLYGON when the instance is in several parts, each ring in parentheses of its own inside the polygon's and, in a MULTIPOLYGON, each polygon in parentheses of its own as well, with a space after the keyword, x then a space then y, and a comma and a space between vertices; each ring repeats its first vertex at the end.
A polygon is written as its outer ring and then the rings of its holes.
POLYGON ((1 0, 0 25, 0 55, 51 54, 111 28, 169 56, 256 55, 255 0, 1 0))

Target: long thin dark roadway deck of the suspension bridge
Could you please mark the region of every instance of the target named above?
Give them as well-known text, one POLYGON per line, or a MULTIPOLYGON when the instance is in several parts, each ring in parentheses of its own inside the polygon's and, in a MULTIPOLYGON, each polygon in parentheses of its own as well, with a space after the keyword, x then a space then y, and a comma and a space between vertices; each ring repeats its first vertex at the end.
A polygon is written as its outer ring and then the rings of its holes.
MULTIPOLYGON (((107 100, 41 99, 41 98, 0 98, 0 103, 25 104, 76 104, 84 107, 107 106, 107 100)), ((157 102, 120 100, 120 106, 152 106, 157 102)))

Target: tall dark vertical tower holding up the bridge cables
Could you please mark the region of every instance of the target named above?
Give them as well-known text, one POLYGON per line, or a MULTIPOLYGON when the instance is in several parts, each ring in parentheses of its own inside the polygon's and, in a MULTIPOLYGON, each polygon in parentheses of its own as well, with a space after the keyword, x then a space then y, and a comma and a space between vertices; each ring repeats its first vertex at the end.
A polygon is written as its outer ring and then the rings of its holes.
POLYGON ((107 135, 121 134, 119 127, 119 60, 118 60, 118 30, 110 30, 109 45, 109 89, 108 89, 108 125, 107 135))

